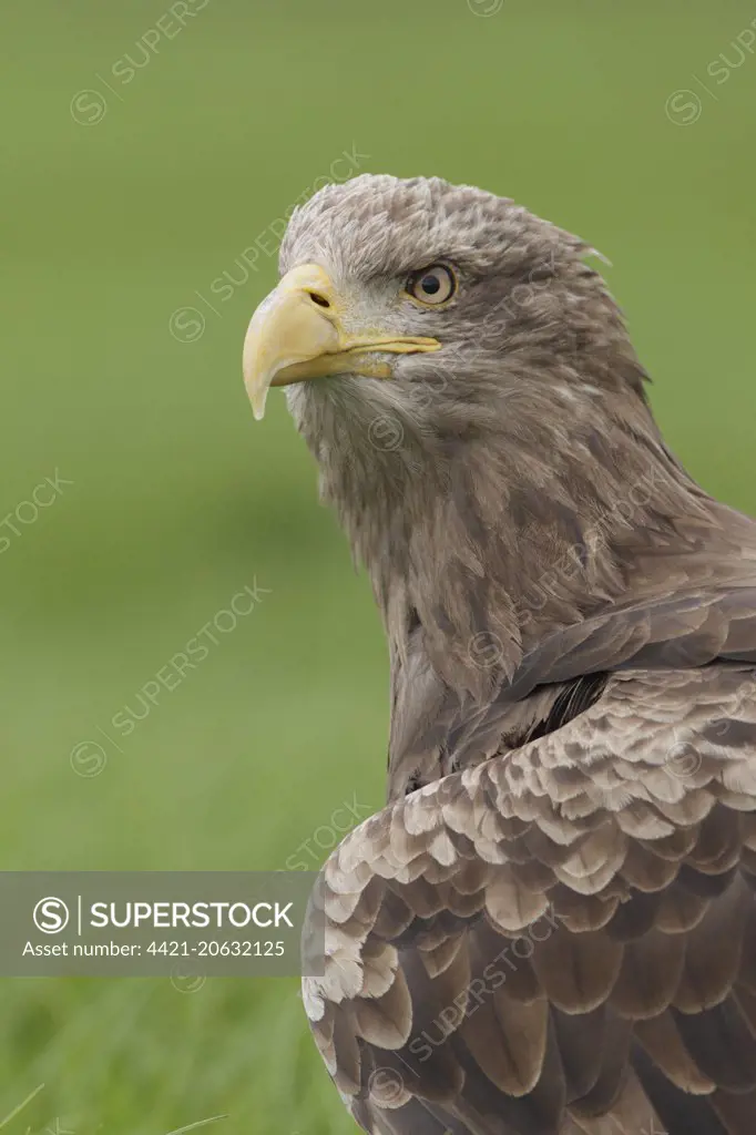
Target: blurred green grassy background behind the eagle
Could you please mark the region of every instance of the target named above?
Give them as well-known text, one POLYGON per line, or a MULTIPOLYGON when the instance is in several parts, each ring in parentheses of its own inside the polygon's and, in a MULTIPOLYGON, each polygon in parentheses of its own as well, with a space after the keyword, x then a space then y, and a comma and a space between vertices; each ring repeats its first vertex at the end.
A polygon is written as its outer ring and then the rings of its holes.
MULTIPOLYGON (((280 868, 344 801, 380 805, 369 588, 283 397, 255 427, 240 377, 276 262, 244 281, 235 261, 344 151, 589 238, 671 444, 756 510, 753 3, 187 0, 183 27, 169 8, 2 16, 0 516, 73 481, 1 529, 6 868, 280 868), (129 54, 146 64, 126 82, 129 54), (224 271, 241 283, 218 302, 224 271), (187 306, 204 322, 171 325, 187 306), (123 751, 106 741, 255 579, 259 608, 123 751), (72 762, 91 740, 102 768, 72 762)), ((0 1007, 3 1135, 353 1129, 294 982, 5 980, 0 1007)))

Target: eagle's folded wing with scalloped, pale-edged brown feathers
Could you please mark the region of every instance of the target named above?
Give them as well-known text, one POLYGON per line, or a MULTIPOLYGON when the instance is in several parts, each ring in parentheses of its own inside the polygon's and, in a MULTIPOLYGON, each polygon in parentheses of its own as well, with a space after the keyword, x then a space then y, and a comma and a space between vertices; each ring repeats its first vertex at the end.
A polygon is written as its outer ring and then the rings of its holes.
POLYGON ((615 673, 562 729, 398 799, 314 898, 305 1004, 358 1123, 750 1135, 755 847, 742 663, 615 673))

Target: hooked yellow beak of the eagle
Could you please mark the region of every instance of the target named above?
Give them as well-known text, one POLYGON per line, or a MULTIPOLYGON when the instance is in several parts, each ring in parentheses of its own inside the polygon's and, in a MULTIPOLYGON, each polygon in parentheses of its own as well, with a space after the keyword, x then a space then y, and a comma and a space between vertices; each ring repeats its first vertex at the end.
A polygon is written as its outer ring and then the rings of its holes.
POLYGON ((293 268, 262 301, 250 322, 243 355, 244 384, 258 420, 271 386, 328 375, 390 378, 389 364, 371 354, 440 347, 437 339, 421 336, 347 335, 342 318, 343 303, 319 264, 293 268))

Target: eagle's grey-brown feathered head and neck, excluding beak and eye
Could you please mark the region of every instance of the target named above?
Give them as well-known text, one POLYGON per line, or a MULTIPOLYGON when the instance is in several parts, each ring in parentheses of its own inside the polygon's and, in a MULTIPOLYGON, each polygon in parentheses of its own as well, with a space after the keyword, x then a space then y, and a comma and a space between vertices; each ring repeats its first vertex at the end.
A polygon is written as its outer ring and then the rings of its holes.
POLYGON ((420 637, 473 698, 555 629, 708 578, 744 544, 665 446, 593 251, 509 199, 388 175, 326 186, 282 245, 282 271, 316 261, 361 319, 443 344, 402 358, 393 381, 338 376, 287 397, 393 657, 420 637), (459 274, 453 303, 401 302, 435 261, 459 274))

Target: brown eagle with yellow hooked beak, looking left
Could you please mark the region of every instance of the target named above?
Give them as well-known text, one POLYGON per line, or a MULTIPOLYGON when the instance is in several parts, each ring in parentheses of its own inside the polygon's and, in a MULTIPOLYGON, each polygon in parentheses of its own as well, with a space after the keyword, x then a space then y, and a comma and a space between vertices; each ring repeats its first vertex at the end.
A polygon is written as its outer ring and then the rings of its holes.
POLYGON ((363 175, 246 334, 388 641, 387 802, 303 984, 373 1135, 756 1130, 756 523, 665 445, 596 255, 363 175))

